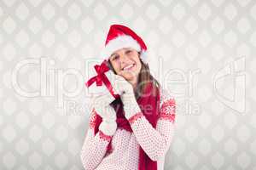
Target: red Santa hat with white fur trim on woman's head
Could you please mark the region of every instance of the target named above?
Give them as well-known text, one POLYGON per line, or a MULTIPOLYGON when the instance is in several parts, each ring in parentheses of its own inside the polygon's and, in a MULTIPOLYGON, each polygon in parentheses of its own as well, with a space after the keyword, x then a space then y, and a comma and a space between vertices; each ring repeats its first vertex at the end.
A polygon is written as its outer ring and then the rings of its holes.
POLYGON ((102 50, 102 59, 108 60, 111 54, 120 48, 134 48, 141 53, 143 63, 148 63, 147 46, 143 39, 127 26, 112 25, 108 31, 105 48, 102 50))

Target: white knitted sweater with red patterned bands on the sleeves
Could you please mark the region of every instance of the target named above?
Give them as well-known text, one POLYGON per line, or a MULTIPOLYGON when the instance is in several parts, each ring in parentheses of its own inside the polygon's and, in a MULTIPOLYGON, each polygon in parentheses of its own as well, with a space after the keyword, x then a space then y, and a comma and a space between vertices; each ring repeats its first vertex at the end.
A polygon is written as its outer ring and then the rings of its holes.
POLYGON ((172 142, 175 122, 175 99, 160 87, 160 116, 156 128, 143 116, 136 113, 128 121, 132 133, 117 128, 113 136, 102 131, 94 135, 95 112, 91 112, 89 128, 80 152, 81 161, 86 170, 137 170, 139 145, 153 161, 157 161, 157 169, 163 170, 166 152, 172 142), (112 139, 112 148, 107 147, 112 139))

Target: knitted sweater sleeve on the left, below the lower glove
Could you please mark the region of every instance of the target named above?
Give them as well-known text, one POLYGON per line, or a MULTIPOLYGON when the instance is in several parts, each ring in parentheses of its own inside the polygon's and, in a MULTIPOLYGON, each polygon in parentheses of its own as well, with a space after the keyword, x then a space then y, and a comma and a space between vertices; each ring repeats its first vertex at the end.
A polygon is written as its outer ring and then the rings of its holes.
POLYGON ((89 128, 84 139, 82 150, 80 151, 80 159, 86 170, 95 169, 102 158, 105 156, 108 144, 112 136, 108 136, 102 131, 98 131, 94 135, 94 127, 96 126, 96 111, 92 110, 90 114, 89 128))

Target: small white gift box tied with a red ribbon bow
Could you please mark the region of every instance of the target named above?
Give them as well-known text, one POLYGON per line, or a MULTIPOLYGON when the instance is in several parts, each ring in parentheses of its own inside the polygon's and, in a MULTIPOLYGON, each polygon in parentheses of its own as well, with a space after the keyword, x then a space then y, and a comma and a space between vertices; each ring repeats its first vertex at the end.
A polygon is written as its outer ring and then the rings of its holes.
POLYGON ((85 86, 89 88, 89 93, 93 95, 109 95, 109 100, 119 98, 119 94, 113 88, 111 82, 114 82, 114 73, 108 67, 108 61, 104 60, 101 65, 94 65, 94 77, 85 82, 85 86))

